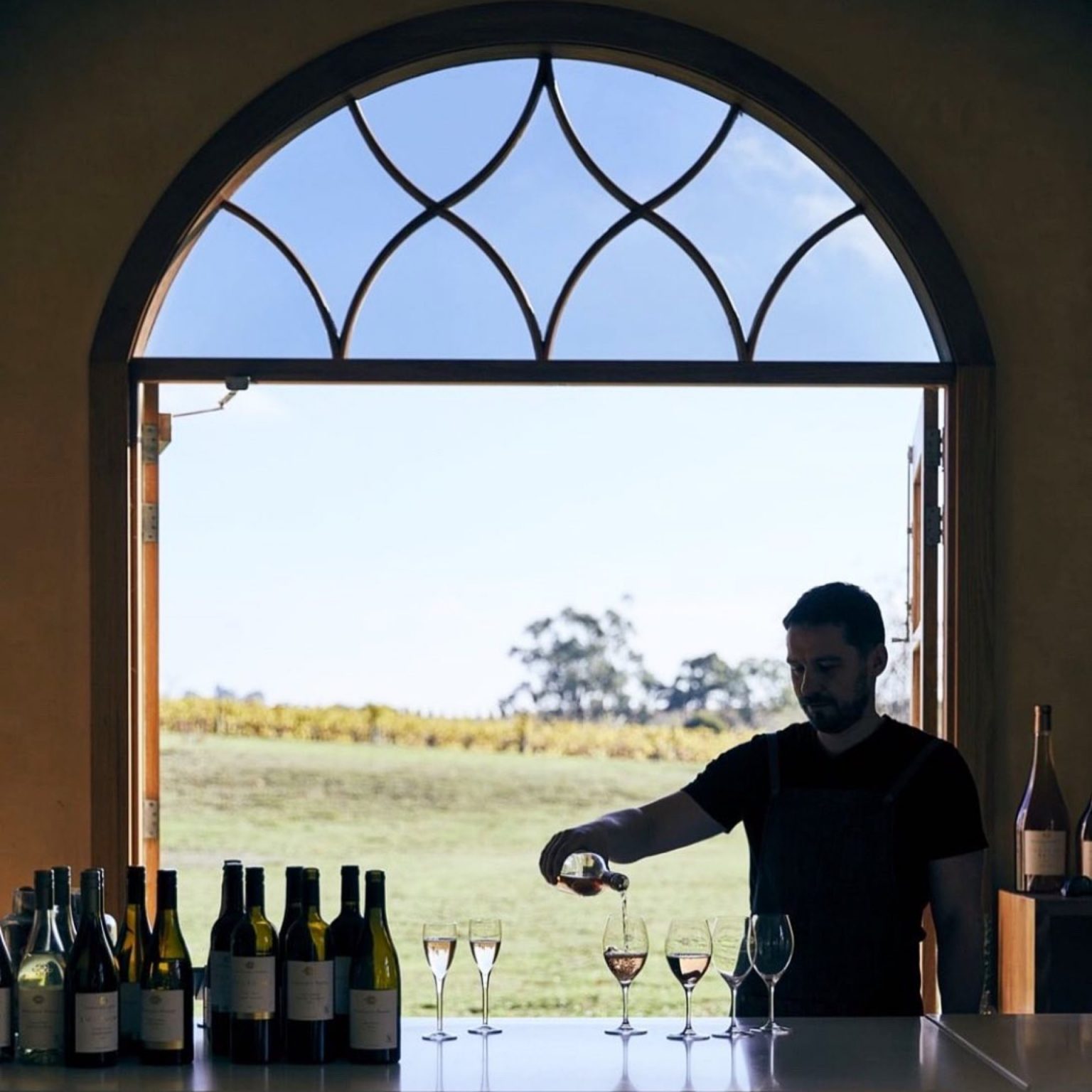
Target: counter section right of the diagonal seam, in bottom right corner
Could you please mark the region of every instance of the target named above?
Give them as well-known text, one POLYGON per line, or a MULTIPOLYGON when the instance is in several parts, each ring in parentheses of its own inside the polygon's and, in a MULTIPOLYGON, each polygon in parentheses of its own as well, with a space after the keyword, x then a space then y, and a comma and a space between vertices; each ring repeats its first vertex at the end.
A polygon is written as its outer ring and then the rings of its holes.
POLYGON ((1092 1014, 933 1017, 946 1034, 1017 1088, 1092 1089, 1092 1014))

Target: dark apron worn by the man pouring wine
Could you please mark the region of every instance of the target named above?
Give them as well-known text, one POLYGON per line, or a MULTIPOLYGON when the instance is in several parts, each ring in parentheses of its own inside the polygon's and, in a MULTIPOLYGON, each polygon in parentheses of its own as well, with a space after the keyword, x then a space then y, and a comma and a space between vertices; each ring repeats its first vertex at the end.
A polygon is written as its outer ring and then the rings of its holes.
MULTIPOLYGON (((778 982, 778 1016, 921 1016, 921 923, 907 923, 895 871, 894 800, 937 746, 930 739, 886 792, 782 792, 778 736, 769 736, 770 803, 753 913, 788 914, 795 946, 778 982), (919 936, 919 934, 917 934, 919 936)), ((737 973, 749 966, 740 950, 737 973)), ((765 1017, 765 983, 751 971, 740 1016, 765 1017)))

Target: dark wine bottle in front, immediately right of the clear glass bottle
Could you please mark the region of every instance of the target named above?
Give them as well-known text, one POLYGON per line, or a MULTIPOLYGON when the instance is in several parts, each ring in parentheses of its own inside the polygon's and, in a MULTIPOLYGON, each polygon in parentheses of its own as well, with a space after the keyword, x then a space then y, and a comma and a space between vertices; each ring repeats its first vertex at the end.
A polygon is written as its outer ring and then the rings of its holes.
POLYGON ((103 921, 103 871, 80 874, 80 930, 64 969, 64 1063, 87 1069, 118 1064, 118 962, 103 921))

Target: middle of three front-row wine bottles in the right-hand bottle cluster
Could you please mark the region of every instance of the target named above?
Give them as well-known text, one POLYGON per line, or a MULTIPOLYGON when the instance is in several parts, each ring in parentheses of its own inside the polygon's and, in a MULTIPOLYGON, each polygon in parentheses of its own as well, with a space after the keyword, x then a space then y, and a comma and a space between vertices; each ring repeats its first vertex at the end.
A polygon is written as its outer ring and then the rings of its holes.
POLYGON ((284 937, 284 1060, 322 1064, 334 1017, 330 927, 319 905, 319 870, 304 869, 302 912, 284 937))

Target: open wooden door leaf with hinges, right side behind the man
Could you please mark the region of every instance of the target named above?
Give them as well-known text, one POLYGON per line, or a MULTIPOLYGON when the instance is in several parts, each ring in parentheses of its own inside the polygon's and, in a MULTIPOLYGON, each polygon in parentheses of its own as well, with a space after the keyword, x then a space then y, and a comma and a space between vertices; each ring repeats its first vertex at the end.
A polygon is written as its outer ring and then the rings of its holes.
MULTIPOLYGON (((940 732, 938 570, 943 513, 940 509, 942 436, 939 425, 940 395, 936 389, 922 392, 917 428, 910 446, 910 488, 906 531, 910 535, 910 719, 923 732, 940 732)), ((937 988, 937 938, 928 907, 923 921, 922 1001, 926 1012, 940 1011, 937 988)))

